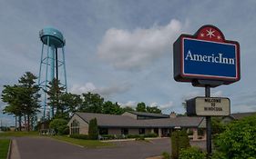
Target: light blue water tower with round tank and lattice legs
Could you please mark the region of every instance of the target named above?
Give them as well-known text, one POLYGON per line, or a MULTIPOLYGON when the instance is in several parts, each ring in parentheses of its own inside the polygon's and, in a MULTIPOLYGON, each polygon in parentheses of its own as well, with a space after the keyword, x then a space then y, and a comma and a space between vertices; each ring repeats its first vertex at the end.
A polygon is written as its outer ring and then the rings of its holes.
MULTIPOLYGON (((42 41, 41 62, 38 77, 38 84, 43 90, 48 90, 47 84, 52 82, 54 78, 59 80, 61 86, 67 91, 67 75, 65 65, 65 38, 62 33, 55 28, 46 27, 39 32, 42 41), (60 53, 58 51, 60 50, 60 53)), ((46 109, 51 110, 50 115, 54 115, 54 107, 47 105, 47 94, 43 93, 44 112, 43 117, 46 118, 46 109)))

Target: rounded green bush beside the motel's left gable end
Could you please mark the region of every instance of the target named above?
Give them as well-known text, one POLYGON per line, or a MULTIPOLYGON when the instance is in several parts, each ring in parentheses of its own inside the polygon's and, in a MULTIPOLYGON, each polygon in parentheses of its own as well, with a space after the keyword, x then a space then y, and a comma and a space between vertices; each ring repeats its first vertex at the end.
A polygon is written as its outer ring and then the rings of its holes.
POLYGON ((56 134, 68 134, 67 120, 65 119, 54 119, 50 122, 49 127, 54 129, 56 134))

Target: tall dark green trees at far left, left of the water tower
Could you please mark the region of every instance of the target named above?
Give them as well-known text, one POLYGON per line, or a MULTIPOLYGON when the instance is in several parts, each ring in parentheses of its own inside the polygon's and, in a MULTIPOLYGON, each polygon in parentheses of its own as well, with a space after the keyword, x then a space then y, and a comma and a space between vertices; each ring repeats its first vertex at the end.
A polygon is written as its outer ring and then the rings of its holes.
POLYGON ((36 84, 36 76, 26 72, 15 85, 4 85, 2 100, 7 103, 4 113, 15 114, 19 118, 19 130, 21 129, 21 117, 24 115, 26 128, 30 130, 32 115, 36 114, 40 105, 38 104, 40 94, 39 86, 36 84))

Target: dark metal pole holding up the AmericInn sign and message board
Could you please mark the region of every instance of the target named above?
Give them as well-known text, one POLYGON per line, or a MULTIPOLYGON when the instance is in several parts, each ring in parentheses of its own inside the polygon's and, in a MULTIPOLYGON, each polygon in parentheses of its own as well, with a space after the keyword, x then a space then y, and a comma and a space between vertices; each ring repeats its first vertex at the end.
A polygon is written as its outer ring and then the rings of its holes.
MULTIPOLYGON (((210 97, 210 85, 205 85, 205 97, 210 97)), ((210 159, 211 154, 211 125, 210 125, 210 116, 206 116, 206 131, 207 131, 207 158, 210 159)))

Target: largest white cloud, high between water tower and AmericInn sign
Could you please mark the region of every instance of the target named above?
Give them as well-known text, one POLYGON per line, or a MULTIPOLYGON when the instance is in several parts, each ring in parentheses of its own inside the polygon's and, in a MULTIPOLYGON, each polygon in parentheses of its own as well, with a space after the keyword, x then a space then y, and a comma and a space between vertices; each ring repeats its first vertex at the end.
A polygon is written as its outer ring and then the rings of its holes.
POLYGON ((139 69, 168 50, 170 52, 171 44, 181 30, 181 23, 175 19, 165 26, 153 25, 148 29, 138 28, 131 32, 111 28, 97 46, 97 55, 118 69, 139 69))

